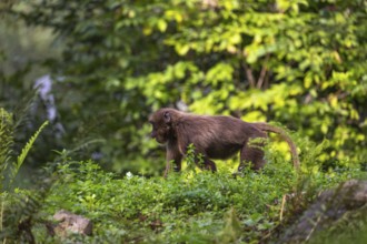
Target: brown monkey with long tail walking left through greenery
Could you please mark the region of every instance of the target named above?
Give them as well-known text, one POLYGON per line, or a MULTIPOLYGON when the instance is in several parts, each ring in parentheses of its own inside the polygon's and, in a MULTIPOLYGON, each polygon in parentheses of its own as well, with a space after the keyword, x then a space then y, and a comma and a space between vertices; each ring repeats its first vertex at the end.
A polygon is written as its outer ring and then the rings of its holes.
MULTIPOLYGON (((275 132, 288 143, 294 166, 299 169, 297 149, 287 133, 268 123, 247 123, 232 116, 209 116, 185 113, 175 109, 160 109, 149 118, 152 125, 151 138, 167 148, 167 165, 165 177, 168 174, 170 162, 173 161, 175 171, 181 170, 181 160, 187 146, 194 144, 195 155, 201 154, 201 163, 196 164, 202 170, 217 171, 211 160, 228 159, 240 152, 240 171, 245 163, 251 163, 252 170, 265 165, 264 142, 249 143, 256 138, 267 138, 266 132, 275 132)), ((197 156, 195 156, 197 157, 197 156)))

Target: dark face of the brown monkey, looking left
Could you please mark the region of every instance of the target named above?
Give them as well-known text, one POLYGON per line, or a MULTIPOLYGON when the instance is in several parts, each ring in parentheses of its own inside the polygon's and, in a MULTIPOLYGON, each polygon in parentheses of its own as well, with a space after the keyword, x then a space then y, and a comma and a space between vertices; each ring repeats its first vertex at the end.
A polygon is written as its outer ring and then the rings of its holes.
POLYGON ((167 111, 157 111, 149 118, 151 124, 151 138, 158 143, 166 143, 171 134, 170 114, 167 111))

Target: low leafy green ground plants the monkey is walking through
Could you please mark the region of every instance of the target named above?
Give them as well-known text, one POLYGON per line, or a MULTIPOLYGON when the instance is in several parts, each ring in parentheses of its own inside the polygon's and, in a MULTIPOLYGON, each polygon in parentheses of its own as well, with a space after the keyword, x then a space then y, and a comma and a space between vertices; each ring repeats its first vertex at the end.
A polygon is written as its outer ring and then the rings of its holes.
POLYGON ((319 171, 318 154, 307 157, 302 173, 296 173, 275 154, 262 171, 245 169, 237 177, 227 166, 216 174, 188 167, 167 179, 130 172, 117 179, 92 161, 76 162, 63 153, 56 171, 59 181, 43 210, 48 215, 66 209, 90 217, 93 236, 82 237, 85 242, 257 243, 269 238, 320 190, 363 176, 353 167, 319 171), (285 195, 294 197, 282 207, 285 195))

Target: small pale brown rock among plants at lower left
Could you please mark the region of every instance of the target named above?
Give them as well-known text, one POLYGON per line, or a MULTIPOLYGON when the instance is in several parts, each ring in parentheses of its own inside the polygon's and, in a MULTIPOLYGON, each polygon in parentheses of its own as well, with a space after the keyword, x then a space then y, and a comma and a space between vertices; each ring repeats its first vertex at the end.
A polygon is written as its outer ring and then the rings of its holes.
POLYGON ((53 215, 59 223, 53 231, 59 236, 67 236, 69 233, 78 233, 83 235, 92 234, 92 223, 87 217, 60 210, 53 215))

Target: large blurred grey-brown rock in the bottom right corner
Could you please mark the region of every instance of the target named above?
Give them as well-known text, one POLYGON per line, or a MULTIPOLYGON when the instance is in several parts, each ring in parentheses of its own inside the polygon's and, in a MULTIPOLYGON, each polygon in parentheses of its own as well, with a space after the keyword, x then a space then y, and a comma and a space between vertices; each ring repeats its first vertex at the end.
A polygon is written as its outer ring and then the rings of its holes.
POLYGON ((323 230, 333 226, 345 214, 365 214, 367 181, 348 181, 338 187, 323 192, 301 217, 290 226, 278 243, 302 243, 323 230))

